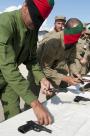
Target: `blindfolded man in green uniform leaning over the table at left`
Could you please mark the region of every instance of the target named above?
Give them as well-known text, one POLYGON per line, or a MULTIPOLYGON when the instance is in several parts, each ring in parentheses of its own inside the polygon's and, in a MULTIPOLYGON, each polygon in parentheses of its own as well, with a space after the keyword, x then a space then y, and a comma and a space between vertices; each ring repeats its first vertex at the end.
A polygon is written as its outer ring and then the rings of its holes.
POLYGON ((42 74, 36 61, 39 27, 48 17, 54 0, 25 0, 22 8, 0 15, 0 97, 5 119, 20 113, 19 97, 30 105, 40 124, 50 124, 52 118, 37 100, 19 72, 18 65, 34 69, 41 88, 48 90, 50 82, 42 74))

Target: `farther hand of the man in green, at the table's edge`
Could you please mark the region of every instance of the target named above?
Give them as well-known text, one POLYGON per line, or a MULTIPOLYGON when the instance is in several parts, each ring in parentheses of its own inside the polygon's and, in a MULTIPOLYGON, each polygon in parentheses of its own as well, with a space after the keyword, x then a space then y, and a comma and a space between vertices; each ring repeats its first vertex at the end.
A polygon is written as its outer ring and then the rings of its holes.
POLYGON ((51 83, 46 78, 43 78, 40 83, 41 83, 42 93, 47 95, 47 96, 51 96, 53 94, 51 92, 51 88, 52 88, 51 83))

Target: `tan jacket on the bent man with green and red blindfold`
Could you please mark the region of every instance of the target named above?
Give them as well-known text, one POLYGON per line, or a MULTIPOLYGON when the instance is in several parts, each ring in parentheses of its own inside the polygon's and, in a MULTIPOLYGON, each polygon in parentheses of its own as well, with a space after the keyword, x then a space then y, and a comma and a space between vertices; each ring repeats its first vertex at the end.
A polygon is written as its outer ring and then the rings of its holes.
POLYGON ((44 38, 39 44, 37 54, 46 77, 60 85, 65 73, 68 72, 67 64, 73 63, 76 53, 75 46, 65 50, 62 31, 44 38))

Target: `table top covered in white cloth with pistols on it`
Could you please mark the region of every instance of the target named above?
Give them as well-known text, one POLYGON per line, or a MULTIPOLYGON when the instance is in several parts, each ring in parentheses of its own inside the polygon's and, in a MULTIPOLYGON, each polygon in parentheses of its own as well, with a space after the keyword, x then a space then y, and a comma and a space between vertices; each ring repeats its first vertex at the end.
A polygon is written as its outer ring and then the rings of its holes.
MULTIPOLYGON (((76 89, 71 87, 71 90, 76 89)), ((29 131, 21 134, 17 128, 29 120, 36 120, 32 109, 25 111, 0 124, 0 136, 90 136, 90 102, 75 103, 73 99, 76 95, 82 95, 90 98, 90 92, 59 93, 49 101, 45 106, 53 115, 54 123, 47 126, 52 130, 52 134, 47 132, 29 131)))

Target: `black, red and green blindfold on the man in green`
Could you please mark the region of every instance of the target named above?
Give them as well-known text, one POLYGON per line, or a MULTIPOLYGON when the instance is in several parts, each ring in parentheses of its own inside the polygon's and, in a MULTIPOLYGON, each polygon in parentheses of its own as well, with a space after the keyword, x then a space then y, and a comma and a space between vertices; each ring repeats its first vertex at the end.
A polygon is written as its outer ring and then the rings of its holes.
POLYGON ((54 0, 25 0, 36 28, 39 28, 50 14, 54 0))

